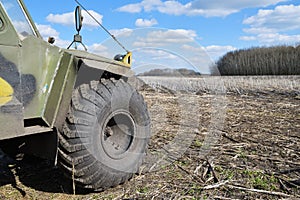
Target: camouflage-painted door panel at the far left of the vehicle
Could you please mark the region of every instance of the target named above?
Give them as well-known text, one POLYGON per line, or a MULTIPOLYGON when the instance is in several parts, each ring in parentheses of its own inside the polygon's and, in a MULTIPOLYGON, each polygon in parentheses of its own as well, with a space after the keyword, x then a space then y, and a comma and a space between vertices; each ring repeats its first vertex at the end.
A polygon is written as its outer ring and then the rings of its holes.
POLYGON ((21 96, 17 94, 21 85, 20 68, 16 67, 19 65, 20 47, 17 33, 1 6, 0 20, 0 77, 3 80, 0 89, 3 90, 9 84, 14 93, 9 102, 3 100, 6 95, 0 96, 0 101, 3 102, 0 106, 0 138, 9 138, 24 132, 23 104, 21 96))

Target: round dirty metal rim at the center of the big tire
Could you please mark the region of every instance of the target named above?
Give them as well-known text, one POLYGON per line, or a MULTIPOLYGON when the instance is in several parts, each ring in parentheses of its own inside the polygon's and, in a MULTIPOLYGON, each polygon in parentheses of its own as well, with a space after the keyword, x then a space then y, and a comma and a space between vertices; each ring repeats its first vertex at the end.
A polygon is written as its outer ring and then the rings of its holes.
POLYGON ((122 159, 133 148, 136 128, 132 116, 127 111, 110 114, 101 131, 102 147, 110 158, 122 159))

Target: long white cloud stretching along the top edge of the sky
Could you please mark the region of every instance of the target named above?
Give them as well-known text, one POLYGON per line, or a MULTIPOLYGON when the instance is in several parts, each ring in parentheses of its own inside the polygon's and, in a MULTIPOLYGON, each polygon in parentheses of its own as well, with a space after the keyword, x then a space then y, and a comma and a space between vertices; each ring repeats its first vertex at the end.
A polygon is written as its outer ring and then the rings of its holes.
POLYGON ((265 7, 276 5, 288 0, 194 0, 182 4, 175 0, 143 0, 140 3, 127 4, 117 10, 120 12, 140 13, 153 10, 170 15, 188 15, 205 17, 225 17, 245 8, 265 7))

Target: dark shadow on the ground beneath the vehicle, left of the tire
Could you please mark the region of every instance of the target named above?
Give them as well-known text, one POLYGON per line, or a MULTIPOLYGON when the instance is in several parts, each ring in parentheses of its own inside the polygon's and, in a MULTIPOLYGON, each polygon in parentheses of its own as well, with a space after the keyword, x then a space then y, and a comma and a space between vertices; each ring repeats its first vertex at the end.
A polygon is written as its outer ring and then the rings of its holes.
MULTIPOLYGON (((50 161, 24 154, 12 158, 0 149, 0 188, 5 185, 11 185, 23 197, 26 187, 47 193, 73 194, 72 181, 50 161)), ((76 188, 76 194, 87 192, 76 188)))

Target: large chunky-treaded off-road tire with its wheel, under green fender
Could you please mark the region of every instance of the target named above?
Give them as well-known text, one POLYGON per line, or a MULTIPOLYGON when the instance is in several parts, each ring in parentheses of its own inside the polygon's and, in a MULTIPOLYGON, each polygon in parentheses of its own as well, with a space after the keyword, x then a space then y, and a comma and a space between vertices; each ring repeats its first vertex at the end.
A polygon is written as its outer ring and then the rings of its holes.
POLYGON ((59 131, 58 164, 78 186, 104 190, 138 172, 150 137, 143 97, 123 80, 74 90, 59 131))

